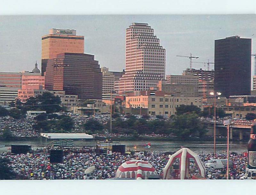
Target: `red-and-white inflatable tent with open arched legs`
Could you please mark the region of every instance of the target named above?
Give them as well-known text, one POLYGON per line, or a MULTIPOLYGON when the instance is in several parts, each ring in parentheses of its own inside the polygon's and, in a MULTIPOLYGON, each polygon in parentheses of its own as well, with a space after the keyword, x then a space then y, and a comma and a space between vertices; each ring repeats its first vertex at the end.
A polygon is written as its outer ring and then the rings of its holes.
POLYGON ((175 159, 180 158, 180 179, 188 179, 189 173, 189 158, 193 158, 195 160, 196 166, 199 170, 199 174, 202 177, 205 177, 205 168, 204 164, 200 160, 199 156, 189 150, 188 148, 182 148, 179 151, 175 152, 172 155, 169 155, 169 161, 164 167, 164 179, 170 179, 170 168, 175 159))

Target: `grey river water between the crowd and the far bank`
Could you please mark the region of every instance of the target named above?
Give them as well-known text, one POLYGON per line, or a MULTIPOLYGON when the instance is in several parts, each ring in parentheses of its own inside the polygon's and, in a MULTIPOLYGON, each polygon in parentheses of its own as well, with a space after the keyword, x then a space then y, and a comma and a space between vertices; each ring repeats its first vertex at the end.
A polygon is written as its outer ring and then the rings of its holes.
MULTIPOLYGON (((192 151, 199 153, 212 153, 213 152, 213 142, 207 141, 119 141, 120 144, 126 145, 126 150, 134 150, 134 146, 136 145, 137 151, 155 151, 155 152, 176 152, 181 147, 187 147, 192 151), (144 146, 150 142, 151 147, 148 148, 144 146)), ((37 148, 43 148, 47 144, 51 144, 49 140, 42 141, 0 141, 0 152, 10 151, 11 144, 17 145, 31 145, 34 150, 37 148)), ((74 140, 74 146, 82 147, 82 146, 95 146, 96 141, 91 140, 74 140)), ((247 142, 229 142, 229 151, 241 153, 247 150, 247 142)), ((216 152, 227 151, 227 143, 226 142, 217 142, 216 144, 216 152)))

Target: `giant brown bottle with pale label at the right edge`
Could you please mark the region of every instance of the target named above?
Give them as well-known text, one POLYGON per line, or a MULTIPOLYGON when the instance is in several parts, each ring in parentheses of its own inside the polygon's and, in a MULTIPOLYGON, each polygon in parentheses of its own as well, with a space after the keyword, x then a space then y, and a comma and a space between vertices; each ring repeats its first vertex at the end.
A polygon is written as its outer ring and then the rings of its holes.
POLYGON ((252 124, 248 142, 248 168, 256 169, 256 124, 252 124))

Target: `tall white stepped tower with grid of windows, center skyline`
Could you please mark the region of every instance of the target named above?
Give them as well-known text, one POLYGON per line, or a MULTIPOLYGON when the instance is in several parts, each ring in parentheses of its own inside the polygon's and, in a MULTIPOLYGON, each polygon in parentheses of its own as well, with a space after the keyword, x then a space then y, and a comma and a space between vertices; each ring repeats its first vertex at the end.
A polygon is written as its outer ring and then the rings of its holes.
POLYGON ((126 29, 125 74, 117 82, 118 93, 149 90, 165 78, 165 49, 146 23, 126 29))

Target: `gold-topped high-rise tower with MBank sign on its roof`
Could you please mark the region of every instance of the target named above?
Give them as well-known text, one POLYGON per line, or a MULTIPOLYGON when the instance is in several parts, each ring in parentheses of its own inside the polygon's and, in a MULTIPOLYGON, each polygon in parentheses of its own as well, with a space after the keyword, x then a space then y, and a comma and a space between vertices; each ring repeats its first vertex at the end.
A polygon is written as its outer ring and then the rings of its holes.
POLYGON ((49 35, 42 36, 42 76, 48 59, 59 53, 84 53, 84 36, 76 35, 76 30, 52 28, 49 35))

